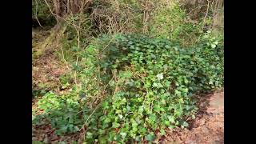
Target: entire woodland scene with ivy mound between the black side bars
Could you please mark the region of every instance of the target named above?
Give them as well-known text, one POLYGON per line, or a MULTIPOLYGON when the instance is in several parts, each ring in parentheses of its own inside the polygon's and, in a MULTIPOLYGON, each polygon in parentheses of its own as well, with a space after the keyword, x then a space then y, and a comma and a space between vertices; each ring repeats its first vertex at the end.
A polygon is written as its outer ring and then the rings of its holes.
POLYGON ((223 0, 33 0, 33 143, 224 143, 223 0))

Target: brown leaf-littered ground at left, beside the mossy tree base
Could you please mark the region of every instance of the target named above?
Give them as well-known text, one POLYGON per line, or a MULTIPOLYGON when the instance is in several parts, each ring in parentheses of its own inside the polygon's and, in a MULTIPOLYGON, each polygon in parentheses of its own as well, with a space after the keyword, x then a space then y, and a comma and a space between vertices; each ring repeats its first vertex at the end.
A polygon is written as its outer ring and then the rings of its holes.
MULTIPOLYGON (((34 54, 40 51, 40 45, 44 39, 49 36, 47 31, 36 31, 34 32, 33 46, 34 54)), ((41 48, 42 49, 42 48, 41 48)), ((54 51, 56 48, 53 46, 46 46, 42 50, 42 54, 38 58, 34 58, 32 61, 32 78, 33 78, 33 90, 54 90, 58 92, 58 86, 61 86, 60 76, 65 74, 68 70, 66 65, 61 62, 54 51), (57 90, 57 91, 56 91, 57 90)))

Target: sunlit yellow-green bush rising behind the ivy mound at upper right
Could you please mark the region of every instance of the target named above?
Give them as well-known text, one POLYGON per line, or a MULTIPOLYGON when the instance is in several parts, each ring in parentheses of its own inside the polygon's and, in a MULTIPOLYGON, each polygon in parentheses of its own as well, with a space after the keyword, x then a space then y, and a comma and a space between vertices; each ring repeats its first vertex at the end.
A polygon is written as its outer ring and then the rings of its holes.
POLYGON ((191 46, 198 40, 201 28, 202 22, 189 22, 186 11, 175 2, 159 7, 150 18, 150 36, 180 42, 184 46, 191 46))

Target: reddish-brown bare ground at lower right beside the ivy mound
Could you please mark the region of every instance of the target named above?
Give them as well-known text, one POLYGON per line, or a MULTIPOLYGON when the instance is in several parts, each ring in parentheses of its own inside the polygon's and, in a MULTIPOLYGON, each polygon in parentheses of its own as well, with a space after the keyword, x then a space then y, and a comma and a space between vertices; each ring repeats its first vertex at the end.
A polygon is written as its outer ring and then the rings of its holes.
POLYGON ((200 96, 198 100, 198 115, 190 122, 190 128, 170 131, 161 143, 224 143, 224 92, 200 96))

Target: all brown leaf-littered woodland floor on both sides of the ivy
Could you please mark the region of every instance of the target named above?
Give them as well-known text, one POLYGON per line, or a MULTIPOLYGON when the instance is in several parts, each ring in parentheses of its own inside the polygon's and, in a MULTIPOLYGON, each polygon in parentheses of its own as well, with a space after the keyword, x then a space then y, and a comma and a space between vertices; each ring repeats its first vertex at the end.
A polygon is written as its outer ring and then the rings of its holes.
MULTIPOLYGON (((43 36, 42 38, 43 39, 43 36)), ((57 90, 59 77, 66 71, 66 66, 59 62, 52 50, 45 50, 39 58, 33 59, 33 85, 40 89, 39 83, 45 83, 49 89, 57 90)), ((37 98, 33 99, 36 106, 37 98)), ((166 136, 159 137, 158 143, 184 144, 220 144, 224 143, 224 91, 215 91, 198 97, 198 114, 190 122, 189 129, 168 131, 166 136)), ((33 126, 32 139, 45 143, 61 141, 78 141, 82 135, 70 134, 60 137, 54 134, 50 126, 33 126)), ((81 142, 82 143, 82 142, 81 142)))

